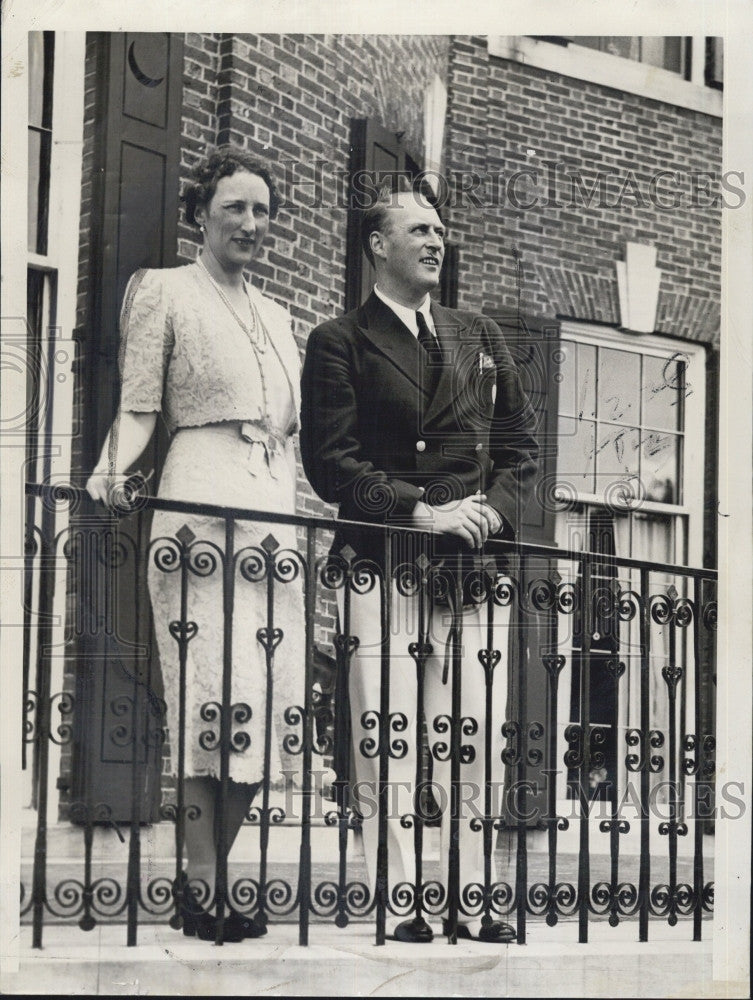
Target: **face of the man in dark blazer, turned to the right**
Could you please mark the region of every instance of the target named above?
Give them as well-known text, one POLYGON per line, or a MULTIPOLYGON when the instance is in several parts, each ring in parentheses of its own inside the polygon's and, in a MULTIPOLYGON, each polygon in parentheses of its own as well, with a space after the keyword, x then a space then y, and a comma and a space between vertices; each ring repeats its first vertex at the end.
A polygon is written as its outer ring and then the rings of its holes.
POLYGON ((444 226, 436 211, 414 192, 393 196, 384 230, 375 234, 378 281, 387 294, 423 299, 439 284, 444 226))

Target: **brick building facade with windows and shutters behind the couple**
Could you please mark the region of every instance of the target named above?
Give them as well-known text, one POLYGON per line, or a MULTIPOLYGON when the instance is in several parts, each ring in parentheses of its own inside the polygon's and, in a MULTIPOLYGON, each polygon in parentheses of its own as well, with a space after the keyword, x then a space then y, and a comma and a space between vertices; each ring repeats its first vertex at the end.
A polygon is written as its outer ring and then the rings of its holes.
MULTIPOLYGON (((713 566, 721 212, 741 197, 721 176, 721 60, 706 38, 32 33, 30 392, 47 405, 29 423, 27 478, 83 485, 116 406, 125 283, 195 258, 181 189, 208 147, 236 142, 278 173, 284 202, 254 280, 289 309, 301 352, 369 285, 354 179, 423 173, 448 226, 441 297, 500 322, 539 414, 524 539, 713 566)), ((163 451, 164 435, 154 465, 163 451)), ((301 513, 332 513, 300 464, 298 487, 301 513)), ((323 605, 325 660, 334 628, 323 605)), ((563 741, 580 711, 579 641, 576 628, 563 741)), ((70 650, 54 670, 53 691, 91 680, 70 650)), ((97 724, 120 683, 98 677, 97 724)), ((711 677, 702 685, 710 731, 711 677)), ((636 724, 633 687, 619 709, 591 691, 612 733, 636 724)), ((90 763, 70 750, 53 758, 63 805, 90 763)), ((617 758, 615 744, 596 784, 618 778, 617 758)))

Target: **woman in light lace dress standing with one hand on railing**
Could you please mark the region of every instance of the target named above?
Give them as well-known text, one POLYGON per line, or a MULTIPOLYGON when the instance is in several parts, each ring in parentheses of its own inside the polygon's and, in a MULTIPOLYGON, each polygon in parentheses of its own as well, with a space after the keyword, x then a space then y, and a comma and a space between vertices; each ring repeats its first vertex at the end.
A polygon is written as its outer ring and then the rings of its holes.
MULTIPOLYGON (((288 313, 244 276, 259 254, 279 195, 262 161, 240 148, 223 146, 196 166, 185 202, 188 221, 203 234, 201 252, 187 266, 137 272, 128 285, 121 313, 120 408, 87 490, 95 500, 107 502, 113 485, 122 481, 148 444, 161 413, 171 442, 160 497, 292 513, 298 350, 288 313)), ((258 574, 256 579, 244 577, 238 553, 260 553, 260 543, 270 533, 280 550, 296 548, 292 527, 235 522, 231 705, 240 710, 231 713, 235 739, 225 801, 228 849, 262 781, 265 756, 267 668, 257 630, 267 625, 267 585, 258 574)), ((193 889, 200 887, 202 902, 212 900, 220 805, 217 709, 222 703, 224 522, 158 511, 152 524, 149 591, 174 771, 180 673, 178 642, 169 625, 181 618, 181 573, 167 571, 171 565, 174 570, 175 562, 162 557, 178 545, 187 547, 191 567, 185 618, 198 628, 186 647, 187 869, 176 888, 184 933, 213 939, 215 918, 199 905, 193 889)), ((301 692, 292 674, 302 672, 291 668, 303 648, 300 578, 287 584, 276 581, 274 624, 283 630, 274 661, 275 705, 299 704, 301 692)), ((276 717, 279 720, 280 711, 276 717)), ((280 758, 277 741, 271 746, 274 778, 280 758)), ((225 940, 266 933, 263 921, 249 920, 232 906, 229 913, 225 940)))

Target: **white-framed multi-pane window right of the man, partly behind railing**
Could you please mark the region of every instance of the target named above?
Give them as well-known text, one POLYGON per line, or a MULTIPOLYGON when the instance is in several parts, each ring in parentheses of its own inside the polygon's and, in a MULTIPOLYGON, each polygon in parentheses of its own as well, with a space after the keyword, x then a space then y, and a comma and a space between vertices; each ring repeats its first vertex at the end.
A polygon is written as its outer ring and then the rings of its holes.
MULTIPOLYGON (((558 454, 555 489, 562 508, 556 514, 560 548, 603 555, 593 564, 596 586, 616 580, 624 590, 640 590, 640 574, 614 557, 653 564, 651 593, 683 582, 665 572, 671 564, 700 564, 703 514, 703 349, 656 335, 630 337, 609 328, 563 323, 557 352, 558 454)), ((576 580, 581 567, 563 560, 563 578, 576 580)), ((689 596, 681 593, 680 596, 689 596)), ((599 730, 603 767, 591 775, 591 794, 609 798, 626 780, 625 736, 640 719, 640 642, 637 622, 613 617, 593 621, 590 641, 590 724, 599 730), (626 672, 619 705, 605 665, 614 651, 626 672)), ((652 727, 669 724, 668 633, 650 623, 649 662, 652 727)), ((560 636, 567 666, 561 732, 581 718, 583 635, 575 614, 570 635, 560 636), (566 714, 565 714, 566 713, 566 714)), ((687 650, 676 652, 685 663, 687 650)), ((692 672, 683 682, 678 720, 693 704, 692 672)), ((688 720, 689 721, 689 720, 688 720)), ((561 737, 564 740, 564 736, 561 737)), ((577 775, 567 775, 574 795, 577 775)), ((652 782, 654 778, 652 777, 652 782)), ((658 779, 657 779, 658 780, 658 779)))

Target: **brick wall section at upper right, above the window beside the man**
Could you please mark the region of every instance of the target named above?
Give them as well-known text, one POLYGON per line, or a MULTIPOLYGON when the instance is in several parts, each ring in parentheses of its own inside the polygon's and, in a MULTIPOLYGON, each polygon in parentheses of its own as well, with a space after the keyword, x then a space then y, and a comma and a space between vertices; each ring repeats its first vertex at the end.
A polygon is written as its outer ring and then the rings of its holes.
POLYGON ((484 201, 474 209, 467 194, 450 212, 460 304, 515 307, 515 248, 524 311, 618 323, 614 262, 625 241, 652 243, 663 272, 657 331, 716 344, 721 212, 708 207, 703 175, 715 173, 718 191, 721 138, 717 118, 490 57, 482 38, 457 39, 447 163, 483 178, 484 201), (659 171, 678 176, 652 190, 659 171))

